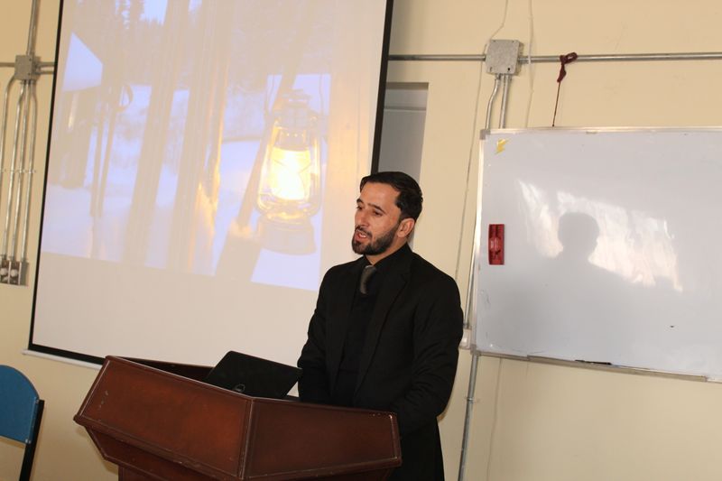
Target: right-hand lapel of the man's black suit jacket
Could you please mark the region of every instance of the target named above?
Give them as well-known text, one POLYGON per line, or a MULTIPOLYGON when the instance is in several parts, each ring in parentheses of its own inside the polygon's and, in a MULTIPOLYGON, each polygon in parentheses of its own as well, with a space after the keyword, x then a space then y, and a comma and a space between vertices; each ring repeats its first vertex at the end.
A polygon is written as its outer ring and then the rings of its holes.
POLYGON ((359 360, 356 391, 358 391, 358 387, 364 381, 366 371, 368 371, 371 360, 374 358, 378 338, 381 335, 382 328, 384 328, 389 310, 391 310, 393 302, 396 301, 401 291, 403 291, 406 282, 409 281, 412 252, 409 251, 407 254, 404 254, 398 262, 399 265, 394 266, 392 272, 389 273, 376 299, 374 313, 371 315, 371 321, 366 330, 366 342, 364 343, 364 349, 361 352, 361 359, 359 360))

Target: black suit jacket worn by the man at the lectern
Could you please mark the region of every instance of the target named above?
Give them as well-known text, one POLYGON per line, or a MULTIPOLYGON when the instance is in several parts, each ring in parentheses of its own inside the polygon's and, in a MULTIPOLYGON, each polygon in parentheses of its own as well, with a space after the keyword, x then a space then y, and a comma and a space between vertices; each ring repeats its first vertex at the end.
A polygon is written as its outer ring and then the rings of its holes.
MULTIPOLYGON (((380 286, 356 380, 353 405, 395 412, 403 466, 392 479, 442 479, 436 418, 454 383, 462 313, 456 282, 403 247, 380 286)), ((329 269, 298 365, 301 401, 329 403, 343 354, 363 258, 329 269)))

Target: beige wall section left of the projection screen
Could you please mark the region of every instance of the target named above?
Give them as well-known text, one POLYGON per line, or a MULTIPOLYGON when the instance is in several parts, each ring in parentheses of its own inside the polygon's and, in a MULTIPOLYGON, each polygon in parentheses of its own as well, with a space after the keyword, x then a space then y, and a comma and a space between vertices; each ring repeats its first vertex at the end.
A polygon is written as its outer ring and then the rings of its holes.
MULTIPOLYGON (((3 2, 2 14, 0 14, 0 61, 13 61, 15 55, 25 53, 30 5, 30 1, 3 2)), ((52 61, 55 58, 58 12, 58 0, 42 0, 35 52, 42 61, 52 61)), ((0 69, 0 88, 3 91, 12 71, 13 69, 0 69)), ((37 255, 51 87, 51 76, 42 76, 39 79, 36 178, 29 248, 29 258, 32 260, 29 281, 31 286, 34 283, 37 255)), ((10 101, 12 112, 18 91, 19 86, 15 84, 10 101)), ((14 117, 10 116, 9 125, 13 125, 13 119, 14 117)), ((5 142, 12 144, 12 137, 8 136, 5 142)), ((3 208, 5 208, 5 199, 3 208)), ((72 213, 68 215, 71 216, 72 213)), ((45 399, 46 407, 32 479, 36 481, 116 479, 115 468, 99 458, 85 431, 72 421, 73 415, 78 411, 85 393, 88 393, 88 388, 97 375, 97 370, 23 355, 22 351, 28 343, 31 312, 32 287, 0 285, 0 364, 13 365, 23 371, 45 399)), ((22 449, 19 445, 0 440, 0 479, 17 479, 21 460, 22 449)))

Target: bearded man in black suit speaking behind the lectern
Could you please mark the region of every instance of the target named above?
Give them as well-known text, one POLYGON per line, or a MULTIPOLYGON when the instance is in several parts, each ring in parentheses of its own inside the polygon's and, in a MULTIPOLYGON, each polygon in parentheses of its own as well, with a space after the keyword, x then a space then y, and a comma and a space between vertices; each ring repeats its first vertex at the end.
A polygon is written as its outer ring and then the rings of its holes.
POLYGON ((395 412, 403 465, 391 478, 443 479, 436 418, 456 375, 458 287, 409 248, 421 214, 415 180, 378 172, 360 190, 351 245, 363 256, 321 282, 298 362, 301 401, 395 412))

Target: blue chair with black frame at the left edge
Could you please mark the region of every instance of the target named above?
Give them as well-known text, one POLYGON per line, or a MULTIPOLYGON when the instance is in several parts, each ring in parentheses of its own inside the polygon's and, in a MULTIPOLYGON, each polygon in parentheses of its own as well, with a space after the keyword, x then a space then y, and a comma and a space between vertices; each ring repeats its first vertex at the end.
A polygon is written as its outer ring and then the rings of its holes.
POLYGON ((0 365, 0 436, 25 445, 20 481, 30 480, 44 404, 23 373, 0 365))

